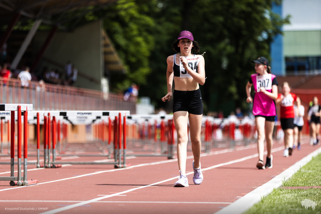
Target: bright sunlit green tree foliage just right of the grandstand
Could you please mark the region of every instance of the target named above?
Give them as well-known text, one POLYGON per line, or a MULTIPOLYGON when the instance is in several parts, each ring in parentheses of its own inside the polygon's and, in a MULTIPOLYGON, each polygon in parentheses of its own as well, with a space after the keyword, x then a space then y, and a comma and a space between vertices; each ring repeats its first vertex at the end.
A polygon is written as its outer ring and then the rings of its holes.
POLYGON ((133 82, 146 84, 146 77, 151 72, 149 58, 154 47, 154 21, 146 15, 148 7, 139 1, 120 0, 106 13, 110 15, 105 18, 104 27, 126 68, 126 76, 112 76, 112 89, 123 91, 133 82))

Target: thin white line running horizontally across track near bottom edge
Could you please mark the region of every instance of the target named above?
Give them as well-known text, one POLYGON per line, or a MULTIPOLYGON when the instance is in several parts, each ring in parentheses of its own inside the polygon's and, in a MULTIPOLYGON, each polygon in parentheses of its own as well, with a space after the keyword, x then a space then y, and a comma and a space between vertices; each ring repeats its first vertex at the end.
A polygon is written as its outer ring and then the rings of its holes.
MULTIPOLYGON (((80 203, 84 201, 43 201, 43 200, 4 200, 0 202, 44 202, 44 203, 80 203)), ((206 202, 206 201, 94 201, 93 203, 152 203, 152 204, 231 204, 231 202, 206 202)))

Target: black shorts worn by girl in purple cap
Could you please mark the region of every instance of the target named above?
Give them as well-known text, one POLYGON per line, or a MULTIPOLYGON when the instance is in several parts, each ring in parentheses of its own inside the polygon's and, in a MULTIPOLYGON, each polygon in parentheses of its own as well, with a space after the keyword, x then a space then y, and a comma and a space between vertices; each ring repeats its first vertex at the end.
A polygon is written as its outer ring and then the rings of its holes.
POLYGON ((201 90, 178 91, 173 93, 173 113, 176 111, 187 111, 190 114, 203 114, 203 101, 201 90))

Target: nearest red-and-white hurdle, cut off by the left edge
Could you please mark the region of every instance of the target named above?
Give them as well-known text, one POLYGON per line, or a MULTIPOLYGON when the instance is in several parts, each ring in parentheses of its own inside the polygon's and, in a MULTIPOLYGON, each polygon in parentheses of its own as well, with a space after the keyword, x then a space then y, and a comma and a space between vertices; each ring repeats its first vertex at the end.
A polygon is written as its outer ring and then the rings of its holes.
POLYGON ((38 183, 37 180, 27 180, 28 165, 28 111, 32 111, 32 104, 0 104, 0 111, 11 111, 11 173, 10 176, 0 177, 0 181, 10 181, 10 185, 27 186, 38 183), (17 111, 17 157, 18 157, 18 176, 14 176, 14 131, 15 131, 15 111, 17 111), (21 174, 21 126, 23 111, 23 176, 21 174))

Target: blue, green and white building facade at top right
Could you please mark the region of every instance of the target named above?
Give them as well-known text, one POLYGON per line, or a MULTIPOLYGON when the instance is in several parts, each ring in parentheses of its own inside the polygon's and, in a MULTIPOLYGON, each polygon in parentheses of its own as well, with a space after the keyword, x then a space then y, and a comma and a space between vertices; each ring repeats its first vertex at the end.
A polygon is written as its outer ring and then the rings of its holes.
POLYGON ((290 24, 283 26, 283 35, 271 44, 273 74, 321 74, 321 1, 283 0, 272 11, 283 18, 291 15, 290 24))

